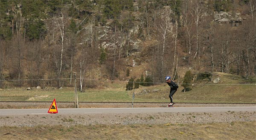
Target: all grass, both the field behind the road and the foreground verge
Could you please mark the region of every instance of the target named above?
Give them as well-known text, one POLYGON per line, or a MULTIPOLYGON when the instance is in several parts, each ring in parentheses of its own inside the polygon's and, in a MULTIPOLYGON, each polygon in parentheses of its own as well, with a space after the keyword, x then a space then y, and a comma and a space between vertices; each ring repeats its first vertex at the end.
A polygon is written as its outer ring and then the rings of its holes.
MULTIPOLYGON (((256 103, 256 79, 244 80, 232 75, 216 73, 218 84, 209 80, 195 81, 192 90, 174 95, 175 102, 192 103, 256 103)), ((177 81, 176 81, 177 82, 177 81)), ((79 101, 91 102, 169 102, 166 83, 132 91, 125 90, 125 82, 105 81, 97 88, 78 92, 79 101)), ((74 101, 74 87, 63 89, 26 88, 0 89, 0 101, 74 101)), ((256 122, 162 124, 162 125, 76 125, 76 126, 2 126, 1 140, 255 140, 256 122)))

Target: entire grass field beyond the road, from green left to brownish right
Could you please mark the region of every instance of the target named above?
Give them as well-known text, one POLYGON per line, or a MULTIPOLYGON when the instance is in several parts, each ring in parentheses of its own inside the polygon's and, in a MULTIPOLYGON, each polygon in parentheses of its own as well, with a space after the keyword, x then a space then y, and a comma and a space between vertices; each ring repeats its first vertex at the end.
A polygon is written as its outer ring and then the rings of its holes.
MULTIPOLYGON (((215 73, 213 78, 216 77, 221 79, 218 84, 209 80, 195 81, 192 90, 188 92, 182 92, 183 87, 180 85, 173 96, 174 102, 256 103, 255 78, 245 80, 225 73, 215 73)), ((102 86, 77 93, 80 102, 131 102, 133 93, 134 102, 169 102, 170 88, 166 83, 150 87, 140 86, 132 91, 126 91, 125 86, 125 82, 104 82, 102 86)), ((74 101, 74 94, 74 87, 29 91, 26 88, 0 89, 0 101, 52 101, 54 98, 58 101, 74 101)))

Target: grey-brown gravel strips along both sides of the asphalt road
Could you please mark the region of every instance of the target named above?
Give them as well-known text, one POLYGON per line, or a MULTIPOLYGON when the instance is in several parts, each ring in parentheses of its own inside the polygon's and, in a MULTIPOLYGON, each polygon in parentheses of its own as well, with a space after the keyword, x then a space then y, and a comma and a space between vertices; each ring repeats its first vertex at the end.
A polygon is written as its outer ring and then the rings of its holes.
MULTIPOLYGON (((51 103, 8 103, 0 102, 1 109, 11 108, 49 108, 51 103)), ((73 103, 56 103, 58 108, 73 108, 73 103)), ((163 107, 166 103, 137 103, 134 107, 163 107)), ((182 104, 186 106, 255 106, 255 104, 182 104)), ((132 107, 131 103, 79 103, 80 108, 132 107)), ((38 125, 130 125, 130 124, 176 124, 176 123, 231 123, 233 121, 256 121, 256 111, 228 111, 214 113, 115 113, 115 114, 29 114, 0 115, 0 126, 38 126, 38 125)))

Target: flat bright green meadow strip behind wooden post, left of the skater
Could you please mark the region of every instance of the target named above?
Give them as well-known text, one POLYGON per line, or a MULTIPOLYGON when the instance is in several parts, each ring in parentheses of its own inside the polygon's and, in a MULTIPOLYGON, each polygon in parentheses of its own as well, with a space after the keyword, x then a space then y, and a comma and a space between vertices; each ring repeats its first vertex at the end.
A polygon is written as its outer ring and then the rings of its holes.
MULTIPOLYGON (((128 102, 131 97, 127 91, 97 90, 90 89, 85 92, 77 92, 79 101, 89 102, 128 102)), ((73 88, 63 89, 34 89, 26 91, 22 89, 2 90, 0 91, 0 101, 52 101, 54 98, 58 101, 74 101, 75 91, 73 88)))

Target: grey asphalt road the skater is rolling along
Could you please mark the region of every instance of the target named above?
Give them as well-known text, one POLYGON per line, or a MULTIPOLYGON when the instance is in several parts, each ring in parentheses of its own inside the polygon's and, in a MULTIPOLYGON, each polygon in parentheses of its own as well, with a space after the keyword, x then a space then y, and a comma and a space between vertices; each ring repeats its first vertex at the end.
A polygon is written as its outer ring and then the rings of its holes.
MULTIPOLYGON (((1 115, 48 114, 49 109, 0 109, 1 115)), ((164 113, 164 112, 227 112, 256 111, 256 106, 232 107, 173 107, 173 108, 94 108, 94 109, 58 109, 58 114, 105 114, 105 113, 164 113)))

